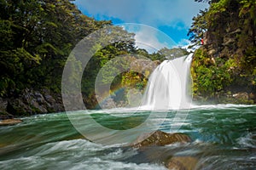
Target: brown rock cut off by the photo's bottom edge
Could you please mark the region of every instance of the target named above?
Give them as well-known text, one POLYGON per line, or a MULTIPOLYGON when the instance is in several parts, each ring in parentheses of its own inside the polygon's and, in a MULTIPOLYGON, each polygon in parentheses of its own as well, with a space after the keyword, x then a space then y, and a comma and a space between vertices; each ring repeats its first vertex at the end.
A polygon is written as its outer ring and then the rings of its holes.
POLYGON ((192 156, 175 156, 167 161, 166 167, 172 170, 196 169, 198 159, 192 156))

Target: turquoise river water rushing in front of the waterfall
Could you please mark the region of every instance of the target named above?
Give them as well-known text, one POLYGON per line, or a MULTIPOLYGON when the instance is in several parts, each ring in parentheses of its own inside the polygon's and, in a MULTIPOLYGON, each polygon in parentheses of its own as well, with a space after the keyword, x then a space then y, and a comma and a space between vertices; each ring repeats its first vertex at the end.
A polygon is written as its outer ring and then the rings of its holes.
MULTIPOLYGON (((82 112, 72 114, 84 119, 93 116, 105 127, 124 133, 154 114, 137 111, 124 118, 121 110, 89 111, 86 116, 82 112)), ((256 168, 255 105, 197 106, 181 122, 172 122, 175 113, 168 111, 160 130, 170 132, 171 127, 183 124, 178 132, 188 134, 193 142, 148 150, 123 147, 118 141, 112 145, 90 142, 65 113, 25 117, 23 123, 0 127, 0 169, 166 169, 163 161, 172 156, 195 157, 199 169, 256 168)), ((125 140, 130 143, 135 136, 125 140)))

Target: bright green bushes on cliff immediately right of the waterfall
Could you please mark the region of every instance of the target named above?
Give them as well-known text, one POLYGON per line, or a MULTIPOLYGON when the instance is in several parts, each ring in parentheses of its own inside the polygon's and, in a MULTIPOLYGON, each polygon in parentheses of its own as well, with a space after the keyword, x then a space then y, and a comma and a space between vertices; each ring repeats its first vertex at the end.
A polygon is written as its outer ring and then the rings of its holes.
POLYGON ((234 59, 207 58, 206 51, 195 53, 192 65, 193 93, 206 99, 217 97, 233 81, 231 71, 236 66, 234 59))

